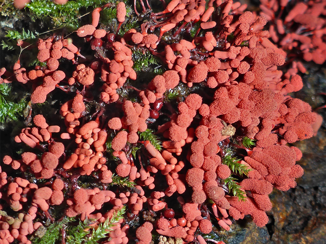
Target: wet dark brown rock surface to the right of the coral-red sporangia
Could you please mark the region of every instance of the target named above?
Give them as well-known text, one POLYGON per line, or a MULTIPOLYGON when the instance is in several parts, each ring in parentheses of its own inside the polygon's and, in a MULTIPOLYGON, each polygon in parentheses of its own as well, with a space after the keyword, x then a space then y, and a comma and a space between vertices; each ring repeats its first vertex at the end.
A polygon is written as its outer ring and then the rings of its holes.
MULTIPOLYGON (((303 157, 299 164, 304 169, 297 187, 287 192, 274 189, 269 195, 273 208, 268 211, 269 223, 257 227, 251 218, 235 221, 230 231, 215 229, 214 240, 227 244, 322 244, 326 236, 326 130, 325 69, 307 64, 309 73, 303 76, 304 88, 292 94, 308 102, 312 109, 323 116, 317 136, 293 143, 303 157), (316 110, 317 109, 317 110, 316 110)), ((214 231, 214 229, 213 229, 214 231)))

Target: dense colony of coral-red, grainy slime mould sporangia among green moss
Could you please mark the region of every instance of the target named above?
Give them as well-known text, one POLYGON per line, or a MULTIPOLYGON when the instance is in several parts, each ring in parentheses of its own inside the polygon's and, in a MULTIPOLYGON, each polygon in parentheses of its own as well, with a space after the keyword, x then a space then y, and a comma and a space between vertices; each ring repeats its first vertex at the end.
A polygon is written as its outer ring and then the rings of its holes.
MULTIPOLYGON (((20 177, 7 182, 6 172, 1 173, 0 208, 9 205, 19 212, 17 218, 1 217, 1 243, 14 239, 31 243, 27 237, 42 226, 41 222, 33 223, 36 213, 43 211, 52 219, 48 209, 62 204, 67 206, 67 216, 78 216, 81 220, 87 216, 97 223, 112 218, 124 205, 129 219, 144 208, 158 212, 159 217, 153 223, 145 222, 137 229, 139 244, 152 241, 153 229, 165 236, 160 237, 161 244, 167 243, 166 237, 175 237, 178 243, 187 243, 196 237, 201 244, 206 243, 198 234, 212 231, 210 215, 200 211, 207 199, 214 201, 214 204, 207 204, 213 212, 212 217, 226 230, 232 223, 229 216, 238 220, 249 214, 258 226, 267 224, 265 212, 272 208, 268 195, 273 187, 287 191, 296 186, 295 178, 303 175, 303 169, 295 164, 302 157, 300 150, 286 143, 312 137, 321 124, 321 116, 313 113, 307 103, 287 95, 303 87, 301 77, 296 75, 297 68, 304 69, 301 63, 293 63, 294 67, 286 76, 277 66, 285 63, 283 50, 294 47, 304 53, 307 61, 325 61, 325 25, 317 21, 320 20, 318 16, 325 15, 325 1, 297 3, 284 22, 280 19, 282 14, 277 19, 274 16, 279 7, 282 12, 287 4, 287 1, 280 2, 279 5, 278 1, 263 1, 263 11, 257 15, 244 12, 246 6, 231 0, 211 0, 208 6, 204 0, 172 0, 163 12, 152 15, 157 24, 150 30, 160 27, 159 36, 149 34, 148 24, 141 25, 141 32, 131 29, 123 37, 96 29, 101 10, 96 8, 92 25, 77 30, 77 35, 90 42, 96 51, 96 58, 91 62, 83 59, 71 39, 39 39, 37 58, 46 62, 46 67, 36 66, 27 71, 18 61, 13 77, 22 84, 32 85, 33 103, 45 102, 53 89, 64 89, 60 85, 75 86, 77 90, 75 97, 64 102, 60 109, 66 128, 49 125, 42 115, 35 115, 35 126, 22 129, 15 137, 16 142, 39 148, 41 157, 25 152, 19 159, 3 158, 13 169, 48 180, 41 186, 20 177), (310 21, 312 17, 316 22, 310 21), (263 30, 267 20, 271 20, 270 32, 263 30), (198 21, 200 28, 205 30, 202 36, 169 45, 160 42, 166 31, 175 28, 178 33, 198 21), (275 42, 280 38, 274 31, 274 23, 280 35, 285 34, 284 28, 295 24, 301 25, 298 28, 301 32, 286 34, 280 41, 282 50, 268 39, 270 35, 275 42), (309 37, 304 31, 309 31, 309 37), (228 41, 230 34, 233 38, 228 41), (158 45, 164 45, 164 51, 157 53, 158 45), (167 66, 146 89, 138 90, 141 102, 119 100, 117 94, 126 79, 137 79, 132 68, 131 46, 147 48, 167 66), (106 53, 112 53, 112 57, 106 53), (63 59, 76 64, 71 77, 60 70, 63 59), (149 141, 140 141, 139 132, 147 129, 149 119, 160 116, 164 93, 180 82, 188 87, 201 83, 214 95, 202 98, 192 93, 184 102, 179 102, 178 111, 156 131, 165 138, 162 141, 164 149, 160 152, 149 141), (121 116, 106 120, 100 112, 96 119, 86 121, 83 118, 87 103, 84 95, 94 89, 95 83, 102 85, 94 99, 107 103, 106 106, 117 106, 115 110, 122 106, 121 116), (247 149, 247 156, 240 161, 252 169, 239 183, 241 189, 247 191, 245 201, 228 195, 221 184, 231 171, 222 164, 219 143, 228 141, 236 130, 242 131, 240 136, 256 140, 256 147, 247 149), (105 143, 112 132, 115 133, 111 142, 113 156, 120 161, 116 168, 104 157, 108 156, 105 143), (127 154, 130 144, 134 143, 142 143, 148 151, 147 155, 141 155, 141 165, 135 165, 132 156, 127 154), (72 152, 67 154, 68 144, 72 152), (190 145, 188 151, 183 150, 186 144, 190 145), (71 174, 94 176, 97 173, 98 181, 107 186, 114 172, 134 181, 137 191, 67 189, 71 174), (158 174, 165 176, 167 184, 156 186, 158 174), (65 198, 63 191, 70 192, 70 198, 65 198), (181 212, 169 209, 169 197, 173 194, 178 196, 181 212), (111 206, 111 210, 103 210, 104 203, 109 204, 106 206, 111 206)), ((117 4, 119 27, 125 15, 125 5, 120 2, 117 4)), ((6 79, 10 72, 2 69, 1 75, 2 82, 10 81, 6 79)), ((127 243, 128 228, 126 221, 121 219, 105 243, 127 243)))

